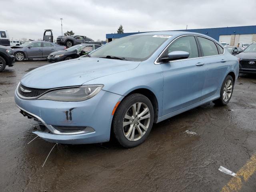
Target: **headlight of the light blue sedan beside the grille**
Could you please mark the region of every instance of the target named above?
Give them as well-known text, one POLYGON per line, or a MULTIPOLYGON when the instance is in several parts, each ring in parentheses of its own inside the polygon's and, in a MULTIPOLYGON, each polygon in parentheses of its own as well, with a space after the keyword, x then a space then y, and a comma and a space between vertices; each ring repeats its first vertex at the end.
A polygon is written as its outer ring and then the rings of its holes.
POLYGON ((104 85, 84 85, 77 88, 59 89, 42 95, 40 100, 76 102, 84 101, 95 96, 104 85))

